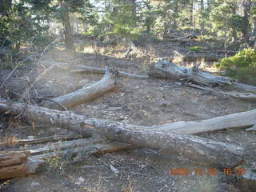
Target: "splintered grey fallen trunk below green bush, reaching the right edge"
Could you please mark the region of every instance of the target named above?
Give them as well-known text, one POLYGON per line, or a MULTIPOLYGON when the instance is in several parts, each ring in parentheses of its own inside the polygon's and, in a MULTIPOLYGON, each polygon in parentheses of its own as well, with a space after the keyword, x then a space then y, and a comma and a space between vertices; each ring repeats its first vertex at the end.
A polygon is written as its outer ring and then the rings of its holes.
POLYGON ((152 78, 166 78, 185 82, 192 82, 199 86, 218 86, 223 90, 238 90, 242 93, 230 92, 231 97, 242 98, 244 100, 254 100, 256 94, 256 86, 249 86, 238 83, 233 78, 218 76, 208 72, 198 70, 198 66, 183 67, 174 65, 174 63, 166 59, 154 62, 150 66, 149 75, 152 78), (252 93, 252 94, 249 94, 252 93))

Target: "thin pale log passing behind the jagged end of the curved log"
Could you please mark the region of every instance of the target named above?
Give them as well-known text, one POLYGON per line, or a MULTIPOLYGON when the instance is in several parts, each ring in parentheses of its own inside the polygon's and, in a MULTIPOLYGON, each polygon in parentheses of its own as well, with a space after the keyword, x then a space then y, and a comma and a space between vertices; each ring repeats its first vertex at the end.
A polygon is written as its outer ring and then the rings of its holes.
MULTIPOLYGON (((90 74, 104 74, 105 70, 99 67, 94 66, 76 66, 76 69, 71 70, 73 73, 90 73, 90 74)), ((119 77, 125 77, 125 78, 149 78, 148 75, 140 75, 140 74, 130 74, 124 71, 118 70, 118 76, 119 77)))

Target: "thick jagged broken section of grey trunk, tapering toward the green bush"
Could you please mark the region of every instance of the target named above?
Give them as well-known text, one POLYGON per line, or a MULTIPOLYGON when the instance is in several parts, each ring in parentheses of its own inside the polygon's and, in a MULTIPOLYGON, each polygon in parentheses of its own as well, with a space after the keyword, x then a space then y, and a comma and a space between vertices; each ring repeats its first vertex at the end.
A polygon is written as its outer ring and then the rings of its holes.
POLYGON ((175 80, 187 80, 203 86, 232 85, 235 82, 232 78, 213 75, 193 68, 176 66, 166 59, 160 59, 150 66, 150 77, 169 78, 175 80))

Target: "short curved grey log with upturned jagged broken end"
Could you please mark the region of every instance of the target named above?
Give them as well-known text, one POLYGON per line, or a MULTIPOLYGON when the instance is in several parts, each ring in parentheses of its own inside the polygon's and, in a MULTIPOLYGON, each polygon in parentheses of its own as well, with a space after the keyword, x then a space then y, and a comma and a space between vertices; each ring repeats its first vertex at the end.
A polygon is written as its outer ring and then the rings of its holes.
POLYGON ((65 94, 57 98, 51 99, 51 101, 45 101, 43 106, 56 109, 56 110, 63 110, 63 106, 70 109, 74 106, 78 106, 85 102, 90 102, 94 98, 109 92, 110 90, 114 89, 116 86, 116 75, 117 70, 109 71, 107 68, 104 70, 104 77, 94 83, 93 85, 86 86, 81 90, 74 91, 70 94, 65 94))

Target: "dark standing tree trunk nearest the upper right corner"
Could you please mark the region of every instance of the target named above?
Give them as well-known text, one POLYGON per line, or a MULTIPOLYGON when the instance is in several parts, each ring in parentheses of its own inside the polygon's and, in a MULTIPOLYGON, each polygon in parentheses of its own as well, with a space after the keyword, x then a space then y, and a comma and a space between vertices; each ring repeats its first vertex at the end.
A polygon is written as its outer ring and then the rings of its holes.
POLYGON ((243 0, 242 12, 244 17, 245 26, 242 30, 242 38, 249 45, 249 32, 250 32, 250 6, 251 0, 243 0))

